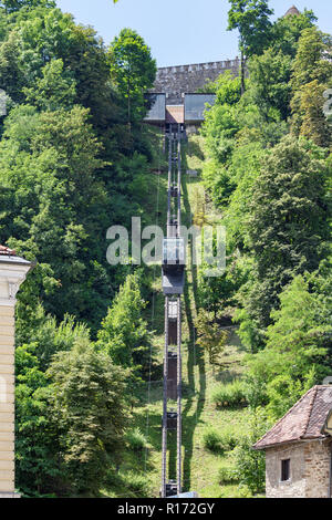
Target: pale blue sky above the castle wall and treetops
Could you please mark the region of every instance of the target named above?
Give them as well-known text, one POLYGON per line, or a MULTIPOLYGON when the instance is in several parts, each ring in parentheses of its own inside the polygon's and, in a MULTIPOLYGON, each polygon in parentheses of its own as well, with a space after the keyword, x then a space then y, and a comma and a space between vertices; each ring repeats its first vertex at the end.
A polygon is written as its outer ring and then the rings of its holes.
MULTIPOLYGON (((331 0, 270 0, 274 18, 295 4, 312 9, 319 25, 332 32, 331 0)), ((106 43, 121 29, 135 29, 152 48, 158 66, 232 59, 237 34, 228 32, 228 0, 58 0, 76 22, 93 25, 106 43)))

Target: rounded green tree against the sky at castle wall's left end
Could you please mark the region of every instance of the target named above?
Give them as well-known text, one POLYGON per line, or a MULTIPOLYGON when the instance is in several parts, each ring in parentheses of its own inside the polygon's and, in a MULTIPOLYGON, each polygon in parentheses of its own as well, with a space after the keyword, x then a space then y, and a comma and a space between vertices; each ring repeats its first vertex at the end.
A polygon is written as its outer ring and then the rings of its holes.
POLYGON ((128 124, 144 115, 144 92, 156 77, 156 62, 143 38, 132 29, 123 29, 108 51, 111 76, 127 102, 128 124))

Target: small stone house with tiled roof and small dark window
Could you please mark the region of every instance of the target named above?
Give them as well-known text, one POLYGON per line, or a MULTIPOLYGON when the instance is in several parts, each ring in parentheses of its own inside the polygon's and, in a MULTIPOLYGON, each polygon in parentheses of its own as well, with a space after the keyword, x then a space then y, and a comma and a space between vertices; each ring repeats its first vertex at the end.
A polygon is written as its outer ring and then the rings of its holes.
POLYGON ((267 498, 332 498, 332 386, 311 388, 253 448, 267 498))

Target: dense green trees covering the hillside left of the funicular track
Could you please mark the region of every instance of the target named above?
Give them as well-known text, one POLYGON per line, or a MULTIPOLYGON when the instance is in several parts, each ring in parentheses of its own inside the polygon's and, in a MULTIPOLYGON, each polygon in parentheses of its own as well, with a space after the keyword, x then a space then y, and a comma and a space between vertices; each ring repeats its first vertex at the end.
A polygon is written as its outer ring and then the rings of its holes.
POLYGON ((153 159, 141 121, 155 63, 128 30, 127 61, 141 53, 128 128, 114 80, 125 66, 113 63, 111 75, 92 28, 49 0, 4 0, 0 15, 0 241, 37 261, 17 305, 17 486, 27 496, 97 496, 121 460, 133 373, 144 376, 149 352, 135 275, 128 315, 120 299, 112 305, 128 269, 107 264, 105 237, 131 215, 151 218, 141 207, 153 159), (110 305, 112 346, 100 349, 92 339, 110 305), (128 341, 126 358, 117 340, 128 341))

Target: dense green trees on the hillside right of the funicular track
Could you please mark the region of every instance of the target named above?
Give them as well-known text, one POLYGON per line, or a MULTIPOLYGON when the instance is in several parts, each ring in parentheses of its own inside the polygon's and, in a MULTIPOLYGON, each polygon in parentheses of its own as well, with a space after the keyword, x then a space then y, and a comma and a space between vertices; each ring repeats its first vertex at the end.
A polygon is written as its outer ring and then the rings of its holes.
MULTIPOLYGON (((268 2, 230 3, 243 71, 209 85, 203 128, 228 268, 205 285, 215 315, 239 325, 255 440, 332 370, 332 38, 312 11, 272 23, 268 2)), ((240 479, 262 491, 263 456, 247 448, 240 479)))

